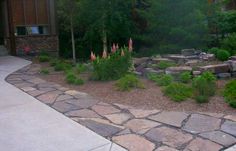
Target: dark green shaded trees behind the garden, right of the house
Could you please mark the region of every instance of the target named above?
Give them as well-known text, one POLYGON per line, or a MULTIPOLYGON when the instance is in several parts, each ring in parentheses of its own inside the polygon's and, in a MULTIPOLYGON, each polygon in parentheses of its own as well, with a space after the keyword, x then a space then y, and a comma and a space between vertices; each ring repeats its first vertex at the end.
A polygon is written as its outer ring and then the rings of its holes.
MULTIPOLYGON (((58 0, 60 55, 72 56, 67 0, 58 0)), ((90 51, 134 40, 139 55, 179 53, 184 48, 219 46, 236 31, 236 12, 207 0, 74 0, 73 20, 78 58, 90 51)), ((228 3, 227 0, 224 3, 228 3)), ((224 4, 225 5, 225 4, 224 4)))

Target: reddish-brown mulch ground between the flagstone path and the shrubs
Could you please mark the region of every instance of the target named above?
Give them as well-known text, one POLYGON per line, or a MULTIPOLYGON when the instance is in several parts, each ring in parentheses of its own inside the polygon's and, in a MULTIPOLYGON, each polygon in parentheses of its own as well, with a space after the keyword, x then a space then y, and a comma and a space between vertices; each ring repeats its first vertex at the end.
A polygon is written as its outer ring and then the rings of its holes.
MULTIPOLYGON (((48 65, 42 64, 42 68, 45 67, 48 67, 48 65)), ((171 101, 168 97, 164 96, 160 87, 146 79, 142 79, 145 89, 120 92, 116 90, 114 81, 86 81, 82 86, 69 85, 65 82, 65 77, 62 72, 56 73, 52 69, 50 70, 49 75, 38 74, 37 76, 49 82, 55 82, 64 87, 88 93, 106 103, 119 103, 143 109, 236 114, 236 110, 229 107, 228 104, 224 102, 224 98, 220 95, 212 97, 209 103, 205 104, 197 104, 192 99, 178 103, 171 101)), ((224 80, 219 80, 217 82, 218 94, 221 94, 222 88, 226 82, 227 81, 224 80)))

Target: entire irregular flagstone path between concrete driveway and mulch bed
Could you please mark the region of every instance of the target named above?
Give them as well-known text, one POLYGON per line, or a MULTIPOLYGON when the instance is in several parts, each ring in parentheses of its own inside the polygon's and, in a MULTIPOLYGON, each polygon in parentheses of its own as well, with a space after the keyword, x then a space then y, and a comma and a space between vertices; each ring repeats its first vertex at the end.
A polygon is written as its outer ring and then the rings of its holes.
POLYGON ((236 114, 167 112, 107 104, 35 77, 25 67, 7 81, 130 151, 235 151, 236 114))

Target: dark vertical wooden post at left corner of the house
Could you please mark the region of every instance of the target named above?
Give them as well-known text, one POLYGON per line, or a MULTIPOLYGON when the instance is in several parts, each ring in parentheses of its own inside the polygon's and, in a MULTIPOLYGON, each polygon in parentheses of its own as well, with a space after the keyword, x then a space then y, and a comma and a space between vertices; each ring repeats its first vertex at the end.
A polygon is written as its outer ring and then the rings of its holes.
POLYGON ((13 22, 13 10, 12 1, 7 0, 7 11, 8 11, 8 26, 9 26, 9 36, 10 36, 10 52, 11 55, 16 56, 16 38, 15 38, 15 27, 13 22))

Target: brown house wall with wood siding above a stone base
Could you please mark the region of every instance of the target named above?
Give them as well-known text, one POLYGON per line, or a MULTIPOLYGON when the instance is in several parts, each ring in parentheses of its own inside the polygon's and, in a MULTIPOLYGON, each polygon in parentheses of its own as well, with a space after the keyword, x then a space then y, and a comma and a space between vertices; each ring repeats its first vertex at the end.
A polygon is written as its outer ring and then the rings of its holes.
MULTIPOLYGON (((15 52, 24 47, 30 47, 37 52, 44 50, 57 52, 59 41, 55 23, 55 2, 54 0, 5 0, 11 4, 12 20, 6 28, 14 29, 14 35, 5 34, 6 47, 11 48, 11 41, 14 37, 15 52), (43 28, 43 33, 33 33, 32 28, 43 28), (20 29, 25 34, 19 34, 20 29)), ((9 19, 9 17, 8 17, 9 19)), ((22 33, 22 32, 21 32, 22 33)))

